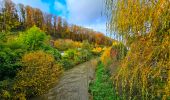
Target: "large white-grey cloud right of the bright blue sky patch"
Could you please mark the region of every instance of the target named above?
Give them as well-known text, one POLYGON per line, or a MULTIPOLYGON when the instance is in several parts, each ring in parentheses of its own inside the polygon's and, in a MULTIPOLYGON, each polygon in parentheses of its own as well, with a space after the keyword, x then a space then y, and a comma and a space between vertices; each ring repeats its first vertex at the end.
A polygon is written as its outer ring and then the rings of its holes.
POLYGON ((66 0, 66 4, 69 22, 106 33, 104 0, 66 0))

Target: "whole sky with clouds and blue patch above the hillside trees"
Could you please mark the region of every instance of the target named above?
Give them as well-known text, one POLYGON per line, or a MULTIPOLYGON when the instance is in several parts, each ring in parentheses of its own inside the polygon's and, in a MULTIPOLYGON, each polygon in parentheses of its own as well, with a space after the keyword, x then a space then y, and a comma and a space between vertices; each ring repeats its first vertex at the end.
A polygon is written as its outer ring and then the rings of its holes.
POLYGON ((106 33, 104 0, 12 0, 65 18, 68 23, 106 33))

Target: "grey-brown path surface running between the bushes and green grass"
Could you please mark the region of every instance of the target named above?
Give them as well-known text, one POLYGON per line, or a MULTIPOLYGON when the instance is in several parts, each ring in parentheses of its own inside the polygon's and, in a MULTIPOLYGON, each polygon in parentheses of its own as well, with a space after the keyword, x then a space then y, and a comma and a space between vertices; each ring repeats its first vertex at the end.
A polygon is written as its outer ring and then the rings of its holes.
POLYGON ((94 78, 96 60, 75 66, 64 72, 58 85, 32 100, 89 100, 88 84, 94 78))

